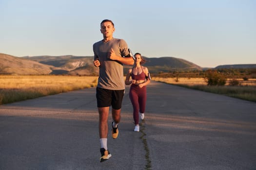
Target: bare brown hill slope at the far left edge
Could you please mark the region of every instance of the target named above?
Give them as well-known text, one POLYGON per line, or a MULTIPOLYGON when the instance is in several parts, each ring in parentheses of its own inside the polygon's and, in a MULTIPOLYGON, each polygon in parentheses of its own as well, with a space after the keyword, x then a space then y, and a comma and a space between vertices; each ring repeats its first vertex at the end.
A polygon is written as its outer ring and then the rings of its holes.
POLYGON ((53 69, 58 68, 49 65, 44 65, 25 58, 0 53, 0 74, 50 74, 53 69))

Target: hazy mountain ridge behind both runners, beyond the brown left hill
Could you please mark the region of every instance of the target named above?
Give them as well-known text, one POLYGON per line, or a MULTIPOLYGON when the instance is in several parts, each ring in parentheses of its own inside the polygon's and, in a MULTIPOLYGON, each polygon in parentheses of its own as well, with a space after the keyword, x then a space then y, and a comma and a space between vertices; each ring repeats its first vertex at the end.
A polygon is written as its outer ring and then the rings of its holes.
MULTIPOLYGON (((93 66, 93 56, 73 56, 73 55, 63 55, 63 56, 33 56, 24 57, 39 63, 52 65, 54 67, 61 67, 69 70, 68 74, 79 74, 85 75, 88 73, 98 74, 98 68, 93 66), (92 69, 94 68, 94 69, 92 69), (88 69, 89 72, 88 72, 88 69), (94 72, 96 71, 96 72, 94 72)), ((159 58, 143 58, 147 61, 144 66, 148 67, 152 73, 158 72, 169 72, 172 70, 182 69, 182 70, 202 70, 201 67, 187 60, 175 58, 175 57, 159 57, 159 58)), ((124 66, 124 72, 127 71, 131 66, 124 66)))

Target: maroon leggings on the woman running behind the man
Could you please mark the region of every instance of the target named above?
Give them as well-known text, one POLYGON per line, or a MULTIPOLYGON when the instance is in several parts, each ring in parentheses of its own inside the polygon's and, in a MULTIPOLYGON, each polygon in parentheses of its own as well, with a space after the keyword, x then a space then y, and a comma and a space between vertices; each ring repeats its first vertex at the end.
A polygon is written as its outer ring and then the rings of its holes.
POLYGON ((146 100, 147 100, 146 86, 139 88, 138 85, 132 84, 130 87, 129 97, 133 104, 133 119, 135 124, 138 124, 139 122, 138 111, 140 113, 144 113, 146 108, 146 100))

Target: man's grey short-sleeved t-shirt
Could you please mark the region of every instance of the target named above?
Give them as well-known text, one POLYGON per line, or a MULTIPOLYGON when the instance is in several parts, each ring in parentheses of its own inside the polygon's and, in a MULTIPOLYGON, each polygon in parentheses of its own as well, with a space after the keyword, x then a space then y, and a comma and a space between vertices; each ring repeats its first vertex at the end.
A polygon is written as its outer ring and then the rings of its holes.
POLYGON ((107 58, 111 48, 118 56, 129 56, 127 43, 123 39, 113 38, 108 42, 103 42, 102 40, 96 42, 93 45, 94 59, 98 59, 100 62, 97 87, 123 90, 125 88, 123 65, 118 61, 107 58))

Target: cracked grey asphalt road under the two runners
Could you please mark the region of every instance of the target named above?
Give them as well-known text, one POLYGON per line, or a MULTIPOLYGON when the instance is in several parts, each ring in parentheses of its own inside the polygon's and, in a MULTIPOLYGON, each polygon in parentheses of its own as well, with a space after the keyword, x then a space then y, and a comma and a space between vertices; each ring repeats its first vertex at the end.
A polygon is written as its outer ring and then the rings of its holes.
POLYGON ((256 170, 255 102, 151 82, 136 133, 128 90, 103 163, 95 88, 1 105, 0 170, 256 170))

